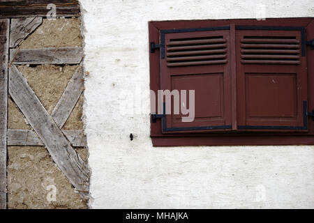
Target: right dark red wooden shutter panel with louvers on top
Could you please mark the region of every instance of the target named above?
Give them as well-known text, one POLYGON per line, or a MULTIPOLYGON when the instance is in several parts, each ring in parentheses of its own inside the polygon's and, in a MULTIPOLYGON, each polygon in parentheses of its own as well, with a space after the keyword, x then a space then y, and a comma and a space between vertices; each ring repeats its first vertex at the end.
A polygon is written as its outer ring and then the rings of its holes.
POLYGON ((304 29, 237 26, 241 130, 307 130, 304 29))

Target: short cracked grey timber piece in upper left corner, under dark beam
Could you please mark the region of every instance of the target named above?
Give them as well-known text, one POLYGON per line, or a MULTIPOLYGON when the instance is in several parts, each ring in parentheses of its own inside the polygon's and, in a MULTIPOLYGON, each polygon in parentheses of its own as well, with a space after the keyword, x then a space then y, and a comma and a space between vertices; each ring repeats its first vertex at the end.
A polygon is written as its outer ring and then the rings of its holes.
POLYGON ((30 33, 43 23, 42 17, 24 17, 11 20, 10 47, 20 45, 30 33))

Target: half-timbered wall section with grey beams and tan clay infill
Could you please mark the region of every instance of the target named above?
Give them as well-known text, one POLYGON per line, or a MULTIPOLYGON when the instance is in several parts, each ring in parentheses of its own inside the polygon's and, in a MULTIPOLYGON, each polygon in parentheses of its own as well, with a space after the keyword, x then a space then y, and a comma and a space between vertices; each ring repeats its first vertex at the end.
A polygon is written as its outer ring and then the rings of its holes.
POLYGON ((0 56, 0 208, 87 208, 77 1, 1 2, 0 56))

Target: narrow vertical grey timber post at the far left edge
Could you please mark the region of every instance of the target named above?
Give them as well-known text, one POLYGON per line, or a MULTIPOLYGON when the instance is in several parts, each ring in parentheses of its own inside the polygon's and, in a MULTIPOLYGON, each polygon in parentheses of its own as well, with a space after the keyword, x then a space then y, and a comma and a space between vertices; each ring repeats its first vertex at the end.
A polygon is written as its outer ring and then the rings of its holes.
POLYGON ((6 208, 9 20, 0 20, 0 209, 6 208))

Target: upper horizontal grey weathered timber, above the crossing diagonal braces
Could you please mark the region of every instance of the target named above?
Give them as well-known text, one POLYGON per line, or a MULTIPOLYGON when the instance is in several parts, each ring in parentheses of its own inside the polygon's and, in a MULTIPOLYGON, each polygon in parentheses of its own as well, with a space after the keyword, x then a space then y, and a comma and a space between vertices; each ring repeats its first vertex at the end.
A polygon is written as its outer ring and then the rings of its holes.
POLYGON ((10 50, 10 61, 14 64, 79 64, 82 59, 82 47, 10 50))

